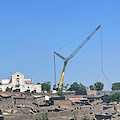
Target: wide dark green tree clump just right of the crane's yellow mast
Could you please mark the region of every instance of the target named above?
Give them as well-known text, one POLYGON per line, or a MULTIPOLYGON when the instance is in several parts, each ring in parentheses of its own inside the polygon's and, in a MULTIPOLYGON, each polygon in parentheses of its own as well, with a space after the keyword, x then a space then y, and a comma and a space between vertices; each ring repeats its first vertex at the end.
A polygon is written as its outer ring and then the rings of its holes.
POLYGON ((82 83, 78 84, 77 82, 74 82, 73 84, 70 85, 68 90, 70 90, 70 91, 86 91, 86 87, 82 83))

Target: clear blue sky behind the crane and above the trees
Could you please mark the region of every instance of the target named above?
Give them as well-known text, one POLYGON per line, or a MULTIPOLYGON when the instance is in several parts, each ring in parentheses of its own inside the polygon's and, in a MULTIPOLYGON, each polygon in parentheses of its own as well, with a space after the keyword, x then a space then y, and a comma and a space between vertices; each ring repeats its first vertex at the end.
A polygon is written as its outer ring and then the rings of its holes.
MULTIPOLYGON (((89 86, 100 81, 104 90, 110 90, 103 75, 98 79, 101 40, 103 71, 111 83, 119 82, 119 6, 119 0, 1 0, 0 80, 19 71, 34 83, 54 85, 54 51, 68 57, 88 33, 102 25, 68 62, 63 83, 89 86)), ((57 83, 62 68, 63 60, 56 56, 57 83)))

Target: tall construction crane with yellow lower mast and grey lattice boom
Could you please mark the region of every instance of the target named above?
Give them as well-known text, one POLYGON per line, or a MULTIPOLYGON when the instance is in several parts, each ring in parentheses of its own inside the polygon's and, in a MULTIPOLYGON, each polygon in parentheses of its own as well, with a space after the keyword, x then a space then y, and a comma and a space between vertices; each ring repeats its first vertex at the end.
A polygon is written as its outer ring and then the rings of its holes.
POLYGON ((90 38, 94 35, 94 33, 101 27, 101 25, 97 26, 93 32, 75 49, 75 51, 73 51, 73 53, 68 56, 67 58, 63 57, 62 55, 58 54, 57 52, 54 52, 54 54, 56 54, 57 56, 59 56, 60 58, 62 58, 64 60, 64 66, 63 66, 63 70, 62 70, 62 74, 61 74, 61 78, 60 78, 60 82, 58 84, 58 88, 56 87, 56 83, 53 87, 53 90, 61 90, 61 85, 63 83, 63 78, 64 78, 64 74, 65 74, 65 68, 66 65, 68 63, 68 61, 73 58, 78 51, 88 42, 88 40, 90 40, 90 38))

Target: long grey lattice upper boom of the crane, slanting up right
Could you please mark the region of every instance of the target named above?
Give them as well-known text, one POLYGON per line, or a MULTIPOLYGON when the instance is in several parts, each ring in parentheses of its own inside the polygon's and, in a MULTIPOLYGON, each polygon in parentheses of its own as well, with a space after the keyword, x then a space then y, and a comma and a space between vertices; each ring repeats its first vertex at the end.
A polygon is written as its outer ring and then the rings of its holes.
POLYGON ((98 27, 95 28, 95 30, 77 47, 77 49, 69 56, 67 57, 67 60, 70 60, 72 57, 74 57, 77 52, 90 40, 90 38, 94 35, 94 33, 101 27, 99 25, 98 27))

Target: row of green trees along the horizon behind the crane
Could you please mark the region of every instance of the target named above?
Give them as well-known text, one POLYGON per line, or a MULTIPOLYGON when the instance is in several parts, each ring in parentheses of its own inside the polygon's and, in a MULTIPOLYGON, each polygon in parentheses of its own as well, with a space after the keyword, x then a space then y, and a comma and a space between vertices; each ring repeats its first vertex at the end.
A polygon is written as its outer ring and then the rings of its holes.
MULTIPOLYGON (((37 83, 40 84, 40 83, 37 83)), ((41 83, 42 86, 42 91, 51 91, 51 83, 49 81, 41 83)), ((86 90, 97 90, 97 91, 102 91, 104 89, 104 84, 101 82, 95 82, 93 85, 90 86, 85 86, 82 83, 77 83, 74 82, 72 84, 62 84, 61 86, 62 90, 65 91, 86 91, 86 90)), ((120 82, 113 83, 111 90, 120 90, 120 82)))

